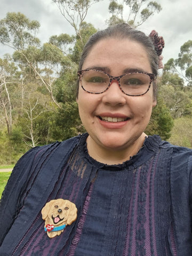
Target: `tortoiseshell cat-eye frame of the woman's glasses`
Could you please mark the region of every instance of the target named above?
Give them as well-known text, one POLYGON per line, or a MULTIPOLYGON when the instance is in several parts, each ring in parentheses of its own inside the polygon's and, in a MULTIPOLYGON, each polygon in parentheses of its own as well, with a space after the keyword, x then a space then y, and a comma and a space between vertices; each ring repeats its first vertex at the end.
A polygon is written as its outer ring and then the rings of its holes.
MULTIPOLYGON (((109 77, 109 85, 107 86, 107 88, 106 88, 103 92, 106 92, 106 91, 109 89, 109 87, 111 86, 111 83, 112 83, 113 81, 117 81, 117 82, 118 82, 119 89, 120 89, 124 94, 126 94, 126 95, 128 95, 128 96, 132 96, 132 97, 137 97, 137 96, 141 96, 141 95, 146 94, 146 93, 149 91, 149 89, 150 89, 151 83, 156 79, 155 74, 153 74, 153 73, 147 73, 146 71, 132 71, 132 72, 127 72, 126 74, 123 74, 123 75, 121 75, 121 76, 111 76, 110 74, 106 73, 105 71, 98 70, 98 69, 82 69, 82 70, 78 70, 78 71, 77 71, 77 75, 78 75, 79 81, 82 81, 82 76, 83 76, 83 73, 84 73, 85 71, 98 71, 98 72, 100 72, 100 73, 102 73, 102 74, 106 74, 106 75, 109 77), (132 94, 128 94, 128 93, 124 92, 123 89, 122 89, 122 87, 121 87, 121 84, 120 84, 120 79, 121 79, 123 76, 129 75, 129 74, 146 74, 146 75, 148 75, 149 78, 150 78, 150 81, 149 81, 149 86, 148 86, 147 91, 144 92, 144 93, 142 93, 142 94, 137 94, 137 95, 132 95, 132 94)), ((103 93, 103 92, 90 92, 90 91, 87 91, 87 90, 84 89, 84 87, 83 87, 82 84, 81 84, 81 87, 82 87, 82 89, 83 89, 85 92, 88 92, 88 93, 92 93, 92 94, 101 94, 101 93, 103 93)))

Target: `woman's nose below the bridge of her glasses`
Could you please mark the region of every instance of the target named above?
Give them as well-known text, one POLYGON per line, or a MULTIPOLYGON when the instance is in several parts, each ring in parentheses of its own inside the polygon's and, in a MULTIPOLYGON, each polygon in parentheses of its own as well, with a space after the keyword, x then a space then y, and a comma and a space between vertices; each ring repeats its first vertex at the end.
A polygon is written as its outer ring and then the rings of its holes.
POLYGON ((103 93, 103 102, 111 105, 125 104, 126 95, 121 91, 117 80, 112 81, 109 89, 103 93))

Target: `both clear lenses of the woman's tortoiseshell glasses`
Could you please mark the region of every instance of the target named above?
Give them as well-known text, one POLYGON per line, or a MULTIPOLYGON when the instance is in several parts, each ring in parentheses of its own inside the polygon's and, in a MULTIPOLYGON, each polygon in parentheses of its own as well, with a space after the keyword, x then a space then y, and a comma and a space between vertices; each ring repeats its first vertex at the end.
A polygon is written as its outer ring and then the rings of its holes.
MULTIPOLYGON (((92 93, 104 92, 110 84, 107 74, 100 71, 84 71, 81 80, 84 90, 92 93)), ((130 95, 143 94, 148 90, 150 76, 143 73, 126 74, 119 79, 121 89, 130 95)))

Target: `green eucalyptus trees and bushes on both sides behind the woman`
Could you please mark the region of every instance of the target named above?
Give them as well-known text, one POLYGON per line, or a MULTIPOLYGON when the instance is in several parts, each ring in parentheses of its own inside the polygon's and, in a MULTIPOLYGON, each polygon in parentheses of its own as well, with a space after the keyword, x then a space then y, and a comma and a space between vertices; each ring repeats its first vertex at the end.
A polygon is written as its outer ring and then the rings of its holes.
MULTIPOLYGON (((65 140, 85 131, 76 103, 77 67, 85 43, 97 31, 84 19, 91 5, 98 1, 52 1, 60 6, 61 13, 66 15, 69 11, 65 18, 69 18, 75 35, 53 35, 48 43, 40 44, 36 37, 40 26, 37 21, 30 21, 21 13, 7 13, 0 21, 0 43, 14 49, 12 57, 7 54, 0 58, 0 164, 15 164, 29 147, 65 140), (9 117, 12 130, 8 134, 9 117)), ((137 27, 159 11, 161 5, 157 2, 127 0, 123 5, 112 0, 109 23, 128 22, 137 27), (125 7, 130 9, 126 21, 125 7)), ((153 110, 147 134, 159 134, 166 140, 172 133, 173 141, 177 133, 171 130, 172 118, 182 119, 192 114, 191 57, 191 41, 188 41, 181 46, 177 60, 167 61, 159 79, 158 105, 153 110), (178 68, 183 68, 186 77, 178 73, 178 68)), ((179 126, 180 119, 175 119, 173 129, 179 126)), ((186 127, 191 129, 190 121, 182 120, 189 122, 186 127)), ((190 146, 187 136, 179 143, 190 146)))

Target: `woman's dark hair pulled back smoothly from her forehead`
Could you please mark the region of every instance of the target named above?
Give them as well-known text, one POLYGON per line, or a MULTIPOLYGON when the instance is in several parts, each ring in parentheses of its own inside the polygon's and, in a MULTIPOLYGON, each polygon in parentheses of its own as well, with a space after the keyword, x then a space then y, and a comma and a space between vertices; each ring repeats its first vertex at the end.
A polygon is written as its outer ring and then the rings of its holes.
MULTIPOLYGON (((89 41, 84 46, 81 59, 79 61, 79 70, 82 69, 83 63, 90 53, 92 47, 101 41, 102 39, 106 38, 120 38, 120 39, 130 39, 132 41, 138 42, 142 44, 149 57, 150 66, 152 69, 153 74, 157 76, 158 74, 158 55, 155 51, 155 46, 153 41, 150 37, 146 36, 143 32, 130 27, 130 25, 126 23, 119 23, 114 26, 110 26, 105 30, 99 30, 97 33, 93 34, 89 41)), ((153 90, 154 90, 154 98, 157 98, 157 84, 156 82, 153 83, 153 90)), ((77 97, 78 97, 78 86, 77 86, 77 97)))

